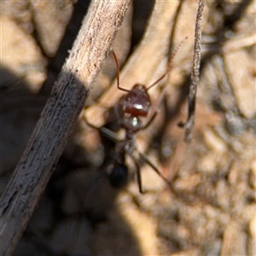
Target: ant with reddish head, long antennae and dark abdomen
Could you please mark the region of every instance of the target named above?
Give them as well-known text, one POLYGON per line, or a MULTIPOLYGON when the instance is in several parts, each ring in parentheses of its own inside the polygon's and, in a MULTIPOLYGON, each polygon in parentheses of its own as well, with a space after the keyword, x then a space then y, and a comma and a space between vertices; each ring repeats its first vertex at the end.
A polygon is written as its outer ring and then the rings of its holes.
MULTIPOLYGON (((187 38, 184 38, 183 41, 185 39, 187 38)), ((103 129, 100 128, 100 130, 104 132, 108 137, 111 137, 114 141, 117 141, 115 147, 116 156, 113 158, 112 162, 106 167, 108 181, 113 185, 113 187, 121 188, 127 183, 128 167, 125 164, 125 156, 129 155, 131 157, 131 160, 133 160, 136 165, 136 176, 139 191, 142 194, 144 193, 140 167, 138 166, 137 160, 134 156, 134 153, 136 151, 137 154, 143 160, 145 160, 149 166, 153 168, 154 172, 156 172, 160 177, 165 180, 166 183, 170 185, 166 177, 162 176, 158 168, 154 166, 154 164, 150 160, 148 160, 148 157, 137 150, 135 145, 135 139, 137 131, 142 131, 146 129, 148 125, 153 122, 154 118, 158 113, 158 110, 156 110, 152 114, 150 119, 148 119, 146 124, 143 123, 143 119, 148 117, 148 113, 151 110, 151 100, 150 96, 148 95, 148 90, 154 87, 154 85, 158 84, 170 72, 172 67, 172 61, 177 54, 178 49, 181 47, 181 44, 183 44, 183 41, 178 45, 177 49, 175 49, 174 53, 172 54, 171 60, 169 61, 166 72, 159 79, 157 79, 153 84, 150 84, 148 87, 146 87, 144 84, 135 84, 131 90, 127 90, 119 85, 119 62, 113 49, 111 49, 117 70, 117 88, 118 90, 123 90, 127 93, 123 99, 123 102, 121 102, 123 118, 121 119, 120 124, 121 127, 125 130, 125 138, 121 141, 118 141, 116 140, 114 136, 115 133, 113 131, 110 131, 107 128, 105 130, 103 127, 103 129)), ((87 120, 86 123, 90 125, 87 120)), ((93 128, 97 128, 94 125, 90 126, 93 128)))

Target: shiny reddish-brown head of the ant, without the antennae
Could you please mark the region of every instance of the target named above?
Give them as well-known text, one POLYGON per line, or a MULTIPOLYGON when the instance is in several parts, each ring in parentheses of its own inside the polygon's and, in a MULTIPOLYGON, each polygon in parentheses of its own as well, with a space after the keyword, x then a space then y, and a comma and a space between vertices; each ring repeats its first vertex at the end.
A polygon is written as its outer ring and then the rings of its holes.
POLYGON ((133 116, 147 116, 151 106, 147 88, 143 84, 135 84, 123 102, 125 113, 131 113, 133 116))

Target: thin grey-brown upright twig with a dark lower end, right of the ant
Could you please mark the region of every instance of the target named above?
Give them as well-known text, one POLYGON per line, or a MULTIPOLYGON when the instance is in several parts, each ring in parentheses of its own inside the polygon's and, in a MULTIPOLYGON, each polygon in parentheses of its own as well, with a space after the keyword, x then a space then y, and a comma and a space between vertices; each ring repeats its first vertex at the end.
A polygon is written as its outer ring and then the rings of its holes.
POLYGON ((199 7, 197 10, 196 20, 195 20, 195 46, 194 46, 194 58, 193 67, 191 72, 190 84, 189 84, 189 114, 188 119, 185 124, 180 123, 180 126, 185 128, 184 140, 189 143, 192 137, 192 130, 195 122, 195 98, 196 89, 199 82, 200 75, 200 64, 201 64, 201 23, 203 9, 206 5, 206 0, 199 1, 199 7))

